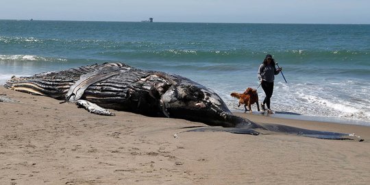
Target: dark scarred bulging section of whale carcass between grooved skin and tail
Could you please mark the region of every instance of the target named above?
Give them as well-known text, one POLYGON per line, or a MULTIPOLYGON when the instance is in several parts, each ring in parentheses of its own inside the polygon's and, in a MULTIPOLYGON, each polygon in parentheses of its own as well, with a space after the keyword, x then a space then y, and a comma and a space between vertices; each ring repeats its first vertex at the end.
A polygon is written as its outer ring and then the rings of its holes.
POLYGON ((170 117, 199 121, 208 125, 234 127, 227 123, 232 113, 213 90, 183 78, 161 97, 170 117))

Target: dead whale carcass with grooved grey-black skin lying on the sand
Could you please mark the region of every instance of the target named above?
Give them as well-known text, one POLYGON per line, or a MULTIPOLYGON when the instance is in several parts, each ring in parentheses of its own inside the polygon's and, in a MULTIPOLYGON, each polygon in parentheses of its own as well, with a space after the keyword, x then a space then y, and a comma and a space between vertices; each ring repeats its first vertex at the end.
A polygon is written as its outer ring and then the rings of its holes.
POLYGON ((229 127, 207 127, 197 131, 219 130, 258 135, 258 129, 315 138, 351 139, 350 134, 303 130, 284 125, 258 125, 234 116, 217 93, 186 77, 160 71, 143 71, 123 63, 94 64, 31 77, 12 77, 4 86, 69 102, 86 100, 103 108, 229 127))

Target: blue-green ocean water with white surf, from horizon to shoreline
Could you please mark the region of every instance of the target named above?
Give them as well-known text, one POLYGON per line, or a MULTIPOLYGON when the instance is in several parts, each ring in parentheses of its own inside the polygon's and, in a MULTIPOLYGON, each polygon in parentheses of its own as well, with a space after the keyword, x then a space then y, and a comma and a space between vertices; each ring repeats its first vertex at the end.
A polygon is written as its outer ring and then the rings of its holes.
POLYGON ((0 84, 12 75, 125 62, 193 79, 243 112, 230 93, 258 87, 267 53, 288 82, 275 77, 277 114, 370 126, 370 25, 0 20, 0 84))

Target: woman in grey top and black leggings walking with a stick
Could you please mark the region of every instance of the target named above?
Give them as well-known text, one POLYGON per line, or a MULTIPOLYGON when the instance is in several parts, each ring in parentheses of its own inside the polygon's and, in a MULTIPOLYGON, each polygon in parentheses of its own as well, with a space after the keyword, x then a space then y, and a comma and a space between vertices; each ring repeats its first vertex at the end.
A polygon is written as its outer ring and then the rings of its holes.
POLYGON ((264 97, 263 102, 261 103, 262 110, 266 110, 264 104, 267 105, 267 111, 272 112, 270 108, 271 96, 273 94, 273 81, 275 75, 278 75, 282 71, 282 68, 275 67, 275 60, 270 54, 267 54, 264 58, 260 68, 258 69, 258 79, 260 80, 260 85, 264 91, 266 97, 264 97))

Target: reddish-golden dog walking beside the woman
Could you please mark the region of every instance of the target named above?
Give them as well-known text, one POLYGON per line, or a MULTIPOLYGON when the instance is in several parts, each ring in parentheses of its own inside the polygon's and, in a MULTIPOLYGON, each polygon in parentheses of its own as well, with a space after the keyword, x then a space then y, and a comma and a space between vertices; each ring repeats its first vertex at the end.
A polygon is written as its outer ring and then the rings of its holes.
POLYGON ((260 106, 258 105, 258 93, 256 89, 247 88, 244 93, 231 93, 231 96, 239 99, 238 107, 240 107, 241 104, 244 104, 245 112, 247 112, 247 106, 249 108, 249 112, 252 112, 251 105, 254 103, 257 104, 257 110, 260 111, 260 106))

